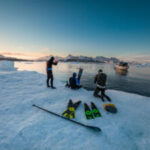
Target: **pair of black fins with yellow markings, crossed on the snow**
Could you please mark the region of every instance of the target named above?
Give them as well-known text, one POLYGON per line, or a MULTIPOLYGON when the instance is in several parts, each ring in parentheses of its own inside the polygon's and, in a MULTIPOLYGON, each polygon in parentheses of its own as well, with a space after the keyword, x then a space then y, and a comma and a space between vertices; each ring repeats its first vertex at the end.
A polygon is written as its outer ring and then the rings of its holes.
POLYGON ((72 100, 69 100, 67 110, 65 110, 62 113, 62 116, 68 118, 68 119, 74 119, 75 118, 75 111, 80 105, 81 101, 77 101, 75 103, 72 102, 72 100))

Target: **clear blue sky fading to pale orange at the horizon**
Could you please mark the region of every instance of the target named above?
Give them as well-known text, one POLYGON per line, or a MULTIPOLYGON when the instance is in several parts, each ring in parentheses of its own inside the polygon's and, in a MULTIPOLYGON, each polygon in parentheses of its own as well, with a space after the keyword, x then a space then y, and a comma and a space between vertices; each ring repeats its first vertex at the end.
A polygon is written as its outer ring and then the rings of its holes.
POLYGON ((0 54, 150 58, 149 0, 0 0, 0 54))

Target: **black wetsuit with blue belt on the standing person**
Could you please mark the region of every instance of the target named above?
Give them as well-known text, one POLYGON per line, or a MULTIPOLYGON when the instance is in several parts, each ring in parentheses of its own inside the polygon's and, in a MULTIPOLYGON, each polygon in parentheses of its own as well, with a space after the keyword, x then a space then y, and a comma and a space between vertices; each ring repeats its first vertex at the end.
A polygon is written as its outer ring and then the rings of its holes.
POLYGON ((52 66, 57 65, 57 63, 53 62, 53 60, 49 60, 47 62, 47 87, 49 87, 49 80, 51 79, 51 87, 53 87, 53 71, 52 66))

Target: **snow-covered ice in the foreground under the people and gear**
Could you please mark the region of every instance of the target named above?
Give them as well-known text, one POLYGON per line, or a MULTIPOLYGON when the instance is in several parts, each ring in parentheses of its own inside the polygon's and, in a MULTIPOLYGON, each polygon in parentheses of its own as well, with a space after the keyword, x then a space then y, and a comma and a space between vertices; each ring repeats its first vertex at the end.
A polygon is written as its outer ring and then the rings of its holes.
MULTIPOLYGON (((0 73, 0 150, 149 150, 150 98, 107 90, 117 114, 103 109, 93 91, 71 90, 54 80, 56 90, 46 87, 46 76, 37 72, 0 73), (39 105, 61 114, 68 100, 82 100, 76 121, 98 126, 94 132, 32 107, 39 105), (93 101, 102 117, 86 120, 84 102, 93 101)), ((107 103, 107 102, 105 102, 107 103)))

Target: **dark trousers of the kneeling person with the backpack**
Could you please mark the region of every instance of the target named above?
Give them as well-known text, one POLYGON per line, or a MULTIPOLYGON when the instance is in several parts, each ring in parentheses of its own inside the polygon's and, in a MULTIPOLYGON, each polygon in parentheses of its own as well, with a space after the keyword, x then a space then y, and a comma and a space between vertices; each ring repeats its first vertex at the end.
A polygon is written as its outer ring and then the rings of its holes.
POLYGON ((105 88, 96 87, 96 89, 94 91, 94 96, 95 97, 100 97, 103 101, 104 101, 104 97, 106 97, 108 101, 111 101, 110 98, 107 95, 105 95, 105 88), (100 91, 101 91, 101 95, 98 95, 98 93, 100 91))

